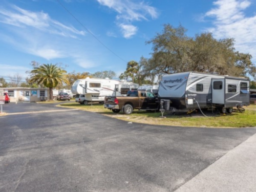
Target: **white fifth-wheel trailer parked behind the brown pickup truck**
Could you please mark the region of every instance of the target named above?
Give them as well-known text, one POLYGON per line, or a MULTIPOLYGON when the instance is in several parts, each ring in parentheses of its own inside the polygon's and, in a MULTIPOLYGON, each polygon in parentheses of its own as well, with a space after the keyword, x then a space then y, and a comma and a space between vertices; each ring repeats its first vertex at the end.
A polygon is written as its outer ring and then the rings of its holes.
POLYGON ((125 80, 89 78, 78 79, 71 91, 73 94, 84 94, 87 101, 103 102, 105 96, 126 96, 127 91, 137 90, 138 84, 125 80))

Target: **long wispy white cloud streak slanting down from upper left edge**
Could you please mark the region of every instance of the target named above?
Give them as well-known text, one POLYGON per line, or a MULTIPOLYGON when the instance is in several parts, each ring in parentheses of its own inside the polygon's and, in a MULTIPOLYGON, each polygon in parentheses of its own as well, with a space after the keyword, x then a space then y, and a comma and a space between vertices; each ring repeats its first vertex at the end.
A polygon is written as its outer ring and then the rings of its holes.
POLYGON ((8 25, 26 28, 32 27, 40 31, 58 34, 61 36, 76 38, 75 35, 85 35, 84 31, 79 31, 72 26, 66 26, 44 12, 32 12, 21 9, 15 5, 11 10, 0 8, 0 22, 8 25))

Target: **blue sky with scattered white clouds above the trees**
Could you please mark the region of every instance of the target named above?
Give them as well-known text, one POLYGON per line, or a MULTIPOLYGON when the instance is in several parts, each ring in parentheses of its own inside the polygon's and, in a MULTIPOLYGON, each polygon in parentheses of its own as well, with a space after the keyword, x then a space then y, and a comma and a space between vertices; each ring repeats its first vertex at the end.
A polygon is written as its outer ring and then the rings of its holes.
POLYGON ((255 11, 256 0, 1 0, 0 77, 25 78, 33 60, 120 75, 128 61, 150 57, 145 41, 163 24, 181 24, 189 36, 235 38, 236 49, 255 63, 255 11))

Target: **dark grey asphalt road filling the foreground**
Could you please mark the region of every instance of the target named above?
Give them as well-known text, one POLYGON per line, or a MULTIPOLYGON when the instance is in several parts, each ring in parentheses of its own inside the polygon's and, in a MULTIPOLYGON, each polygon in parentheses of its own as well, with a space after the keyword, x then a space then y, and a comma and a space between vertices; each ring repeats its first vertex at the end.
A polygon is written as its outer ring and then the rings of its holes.
POLYGON ((9 103, 4 112, 31 113, 0 116, 1 192, 189 191, 256 133, 127 123, 53 104, 9 103))

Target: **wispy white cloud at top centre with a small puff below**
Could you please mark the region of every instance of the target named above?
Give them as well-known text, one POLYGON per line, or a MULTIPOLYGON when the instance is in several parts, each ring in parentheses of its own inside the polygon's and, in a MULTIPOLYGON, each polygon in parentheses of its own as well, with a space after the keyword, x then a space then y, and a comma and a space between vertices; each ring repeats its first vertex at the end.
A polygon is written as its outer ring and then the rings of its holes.
POLYGON ((144 2, 135 3, 132 0, 97 0, 97 2, 118 13, 116 16, 117 25, 125 38, 130 38, 137 32, 137 28, 131 25, 132 22, 148 20, 147 16, 153 19, 158 17, 157 9, 144 2), (126 29, 127 31, 125 31, 126 29))

